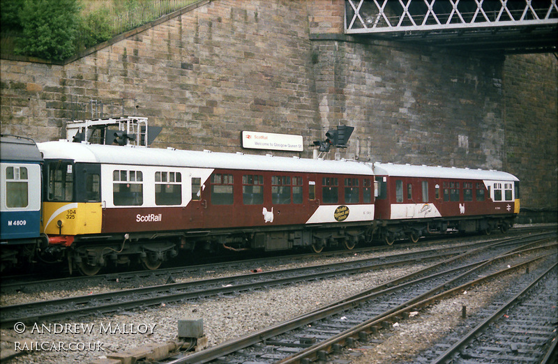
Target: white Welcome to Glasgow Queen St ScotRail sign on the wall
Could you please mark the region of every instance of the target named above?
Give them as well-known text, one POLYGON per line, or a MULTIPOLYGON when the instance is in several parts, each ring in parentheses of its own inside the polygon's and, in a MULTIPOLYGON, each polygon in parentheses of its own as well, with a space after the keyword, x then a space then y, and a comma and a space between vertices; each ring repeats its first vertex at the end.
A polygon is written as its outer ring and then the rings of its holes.
POLYGON ((303 151, 302 135, 276 134, 273 132, 242 132, 242 147, 271 149, 273 151, 303 151))

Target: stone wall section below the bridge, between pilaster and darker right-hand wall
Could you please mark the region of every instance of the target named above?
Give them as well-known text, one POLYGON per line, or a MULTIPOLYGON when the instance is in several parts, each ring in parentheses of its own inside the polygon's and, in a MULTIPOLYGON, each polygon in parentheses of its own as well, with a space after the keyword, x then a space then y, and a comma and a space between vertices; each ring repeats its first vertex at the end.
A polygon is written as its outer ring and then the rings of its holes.
POLYGON ((503 58, 315 40, 322 123, 347 123, 347 157, 502 169, 503 58))

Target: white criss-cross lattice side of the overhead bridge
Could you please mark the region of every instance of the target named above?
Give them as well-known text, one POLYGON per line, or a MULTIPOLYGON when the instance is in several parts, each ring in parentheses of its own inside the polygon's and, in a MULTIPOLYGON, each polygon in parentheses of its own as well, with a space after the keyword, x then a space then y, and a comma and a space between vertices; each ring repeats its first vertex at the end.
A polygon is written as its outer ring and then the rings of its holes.
POLYGON ((558 24, 557 0, 347 0, 345 33, 558 24))

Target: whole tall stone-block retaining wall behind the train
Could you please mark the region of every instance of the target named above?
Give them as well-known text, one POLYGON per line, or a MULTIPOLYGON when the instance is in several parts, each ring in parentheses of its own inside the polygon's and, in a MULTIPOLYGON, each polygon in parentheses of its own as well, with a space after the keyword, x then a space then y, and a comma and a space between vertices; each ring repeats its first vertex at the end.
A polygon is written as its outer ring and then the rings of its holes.
POLYGON ((2 59, 2 132, 65 137, 90 100, 163 126, 156 147, 240 151, 241 130, 308 145, 345 123, 355 131, 341 157, 506 169, 523 181, 522 206, 557 206, 553 56, 347 37, 344 6, 217 0, 63 66, 2 59))

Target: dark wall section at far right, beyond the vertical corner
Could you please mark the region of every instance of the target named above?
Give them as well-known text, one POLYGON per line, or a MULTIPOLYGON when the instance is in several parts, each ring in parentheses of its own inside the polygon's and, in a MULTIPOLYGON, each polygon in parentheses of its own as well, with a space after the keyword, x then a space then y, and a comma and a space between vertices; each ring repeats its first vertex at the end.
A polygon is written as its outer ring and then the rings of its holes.
POLYGON ((522 181, 522 206, 558 206, 558 60, 555 54, 506 57, 506 170, 522 181))

